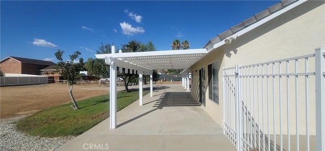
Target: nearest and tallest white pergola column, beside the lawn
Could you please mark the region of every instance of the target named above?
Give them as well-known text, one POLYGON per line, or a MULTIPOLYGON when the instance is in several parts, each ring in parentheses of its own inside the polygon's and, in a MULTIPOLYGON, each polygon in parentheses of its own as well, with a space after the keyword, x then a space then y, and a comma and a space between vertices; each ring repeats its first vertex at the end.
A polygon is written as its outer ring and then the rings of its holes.
MULTIPOLYGON (((115 46, 112 46, 112 54, 115 53, 115 46)), ((116 128, 116 64, 110 65, 110 129, 116 128)))

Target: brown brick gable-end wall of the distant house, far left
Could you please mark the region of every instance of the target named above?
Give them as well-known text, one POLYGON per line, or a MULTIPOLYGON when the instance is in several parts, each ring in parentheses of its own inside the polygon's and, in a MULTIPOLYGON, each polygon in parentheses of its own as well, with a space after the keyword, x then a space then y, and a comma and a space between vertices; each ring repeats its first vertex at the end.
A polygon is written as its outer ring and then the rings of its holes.
POLYGON ((17 73, 21 74, 21 63, 14 60, 8 59, 0 64, 1 71, 6 73, 17 73))

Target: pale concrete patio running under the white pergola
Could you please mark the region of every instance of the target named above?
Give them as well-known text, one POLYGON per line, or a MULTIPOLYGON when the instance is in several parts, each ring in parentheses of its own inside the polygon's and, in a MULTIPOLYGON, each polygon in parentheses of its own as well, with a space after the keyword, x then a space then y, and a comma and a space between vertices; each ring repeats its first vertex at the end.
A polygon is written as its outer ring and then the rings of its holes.
MULTIPOLYGON (((222 129, 178 84, 154 85, 143 97, 56 150, 236 150, 222 129)), ((221 116, 221 115, 220 115, 221 116)))

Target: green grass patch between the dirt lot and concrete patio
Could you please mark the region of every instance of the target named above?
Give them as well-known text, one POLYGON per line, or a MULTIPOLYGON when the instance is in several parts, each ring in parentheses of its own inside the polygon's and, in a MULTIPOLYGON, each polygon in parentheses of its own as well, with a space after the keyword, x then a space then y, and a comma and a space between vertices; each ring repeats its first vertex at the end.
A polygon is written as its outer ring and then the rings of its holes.
MULTIPOLYGON (((148 94, 143 91, 143 95, 148 94)), ((139 99, 139 91, 118 92, 117 111, 139 99)), ((109 96, 94 96, 77 102, 79 110, 71 103, 49 108, 27 116, 17 122, 17 129, 30 135, 43 137, 77 136, 102 122, 109 115, 109 96)))

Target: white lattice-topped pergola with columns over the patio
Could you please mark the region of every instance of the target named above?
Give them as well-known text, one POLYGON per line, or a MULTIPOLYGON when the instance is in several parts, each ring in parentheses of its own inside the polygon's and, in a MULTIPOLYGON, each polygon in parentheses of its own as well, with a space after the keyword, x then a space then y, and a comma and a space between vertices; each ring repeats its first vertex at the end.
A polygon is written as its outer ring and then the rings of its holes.
POLYGON ((137 52, 137 53, 115 53, 112 46, 112 54, 95 55, 98 59, 105 59, 110 65, 110 129, 116 128, 116 70, 119 72, 139 74, 139 102, 142 101, 142 76, 150 75, 150 96, 152 97, 152 70, 160 69, 185 69, 182 72, 182 86, 189 91, 189 74, 187 69, 207 54, 207 49, 186 49, 171 51, 137 52))

